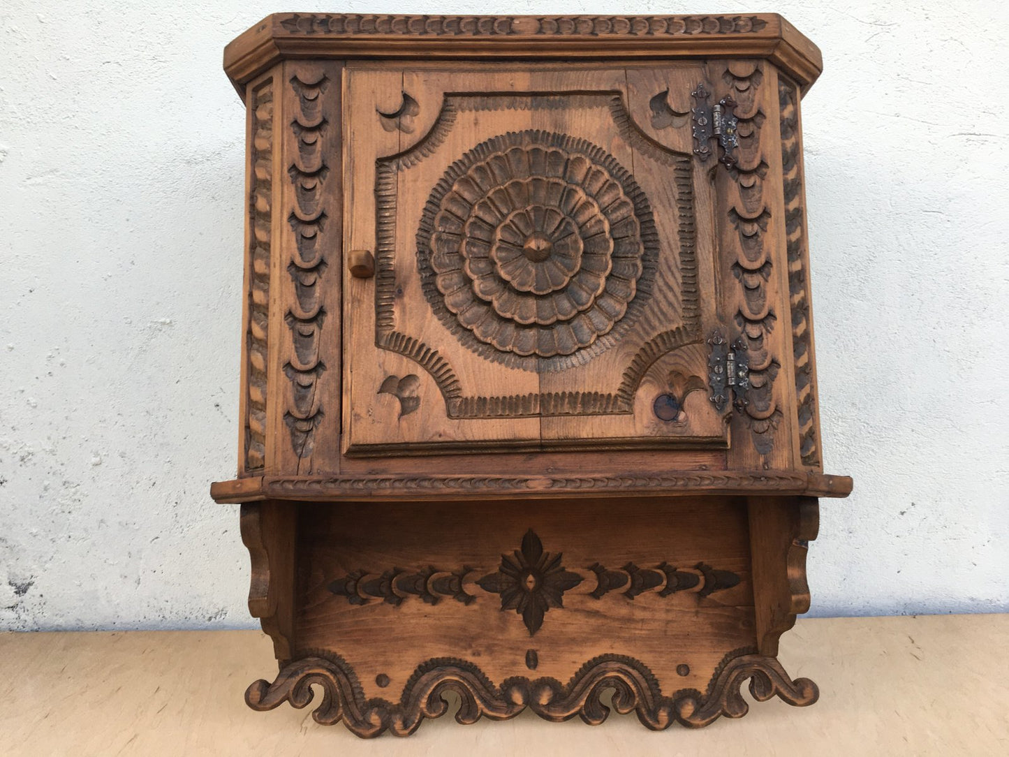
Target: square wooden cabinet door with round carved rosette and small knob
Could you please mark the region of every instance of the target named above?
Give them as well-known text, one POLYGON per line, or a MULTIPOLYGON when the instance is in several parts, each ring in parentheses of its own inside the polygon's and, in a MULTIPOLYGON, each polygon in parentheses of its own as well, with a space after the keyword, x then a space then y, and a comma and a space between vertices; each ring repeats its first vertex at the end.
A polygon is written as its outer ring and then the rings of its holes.
POLYGON ((725 445, 702 78, 348 67, 345 452, 725 445))

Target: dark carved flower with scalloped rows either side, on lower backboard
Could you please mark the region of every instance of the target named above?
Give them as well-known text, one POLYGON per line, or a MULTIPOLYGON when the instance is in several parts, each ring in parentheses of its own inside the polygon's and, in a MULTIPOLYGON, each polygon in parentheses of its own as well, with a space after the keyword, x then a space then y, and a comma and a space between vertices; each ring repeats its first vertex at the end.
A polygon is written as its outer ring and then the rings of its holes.
MULTIPOLYGON (((690 591, 703 598, 740 582, 738 574, 716 570, 703 562, 692 568, 677 568, 667 562, 654 568, 642 568, 628 562, 620 569, 593 562, 584 570, 575 570, 562 564, 563 557, 562 552, 544 551, 540 537, 529 529, 522 539, 522 548, 511 555, 502 554, 497 570, 475 583, 487 593, 499 594, 501 611, 514 610, 522 616, 529 635, 534 636, 550 610, 564 607, 564 592, 583 580, 595 580, 595 588, 588 594, 594 600, 621 589, 628 600, 646 591, 663 598, 677 591, 690 591)), ((327 587, 356 606, 381 600, 400 607, 408 597, 419 597, 432 606, 451 598, 468 606, 477 599, 466 590, 466 576, 474 571, 476 568, 468 565, 452 571, 439 570, 433 565, 415 571, 393 568, 381 574, 360 569, 330 581, 327 587)))

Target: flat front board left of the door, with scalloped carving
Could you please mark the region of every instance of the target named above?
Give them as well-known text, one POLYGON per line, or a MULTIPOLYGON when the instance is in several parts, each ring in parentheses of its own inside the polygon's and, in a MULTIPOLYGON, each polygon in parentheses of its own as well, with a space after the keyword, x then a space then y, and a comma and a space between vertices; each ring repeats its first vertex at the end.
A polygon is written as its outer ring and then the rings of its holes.
POLYGON ((270 460, 296 475, 339 469, 341 69, 290 61, 276 83, 270 460))

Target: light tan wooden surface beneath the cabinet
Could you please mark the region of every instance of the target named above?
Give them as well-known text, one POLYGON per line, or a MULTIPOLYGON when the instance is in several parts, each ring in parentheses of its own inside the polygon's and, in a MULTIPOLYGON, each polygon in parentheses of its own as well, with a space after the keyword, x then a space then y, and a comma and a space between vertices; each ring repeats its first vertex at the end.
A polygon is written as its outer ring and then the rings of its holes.
POLYGON ((743 720, 662 733, 634 716, 590 728, 527 713, 361 741, 316 725, 310 709, 246 709, 245 686, 275 672, 267 641, 254 631, 0 634, 0 754, 1009 754, 1009 615, 800 620, 780 659, 819 684, 816 705, 752 702, 743 720))

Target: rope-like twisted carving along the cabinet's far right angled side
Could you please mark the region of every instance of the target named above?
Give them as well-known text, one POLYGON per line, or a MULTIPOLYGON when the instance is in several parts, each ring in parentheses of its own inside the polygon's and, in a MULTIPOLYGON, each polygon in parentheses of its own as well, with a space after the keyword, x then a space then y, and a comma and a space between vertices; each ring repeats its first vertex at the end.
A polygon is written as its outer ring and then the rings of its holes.
POLYGON ((778 102, 781 106, 781 167, 785 192, 785 236, 789 305, 792 312, 792 354, 795 357, 799 455, 804 465, 818 468, 821 462, 816 434, 816 386, 813 375, 809 278, 806 272, 805 208, 802 207, 798 90, 779 79, 778 102))

